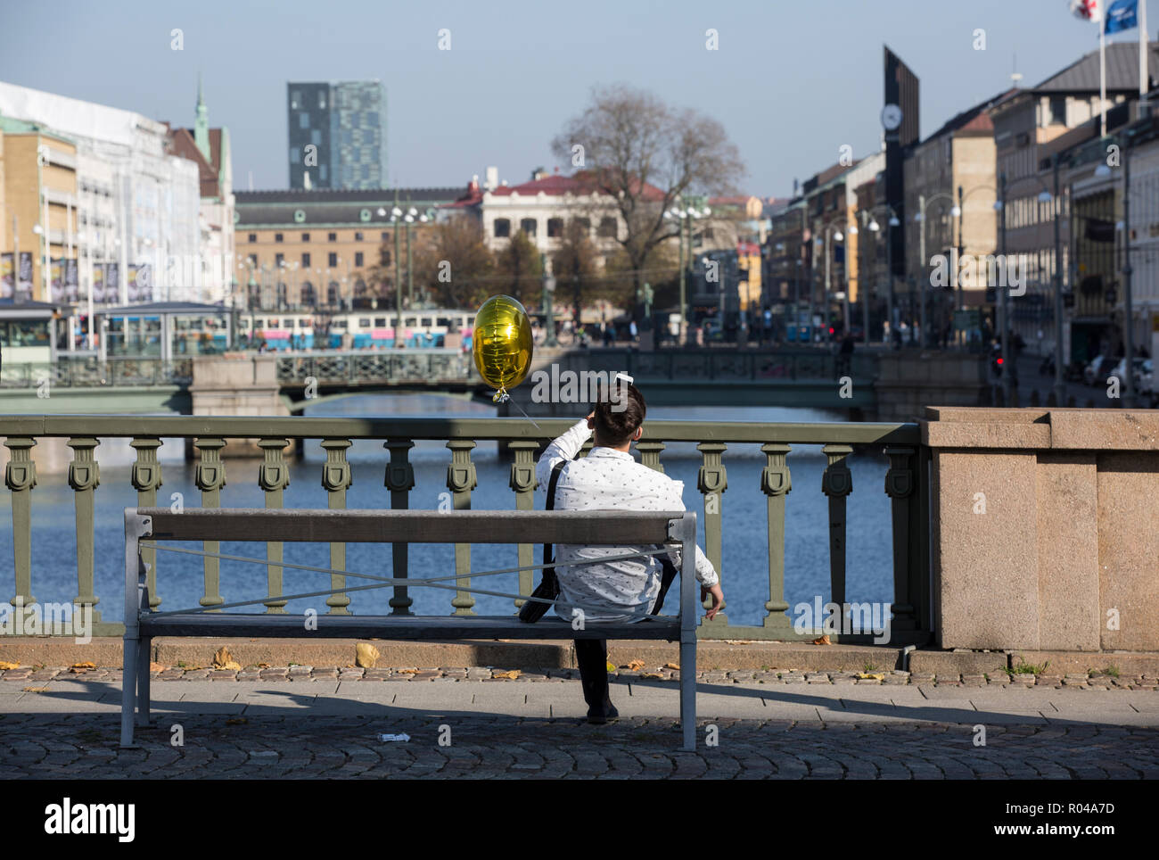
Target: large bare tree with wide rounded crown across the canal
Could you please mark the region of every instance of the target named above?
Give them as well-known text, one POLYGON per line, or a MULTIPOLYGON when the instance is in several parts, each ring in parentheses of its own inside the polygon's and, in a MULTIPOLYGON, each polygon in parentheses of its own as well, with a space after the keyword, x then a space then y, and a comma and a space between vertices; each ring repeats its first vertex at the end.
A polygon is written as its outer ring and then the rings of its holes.
POLYGON ((678 231, 664 212, 681 195, 732 192, 745 173, 739 152, 712 117, 673 109, 626 85, 593 89, 588 108, 552 141, 561 158, 577 158, 576 146, 583 147, 581 178, 591 192, 606 195, 627 227, 617 241, 634 270, 633 316, 639 318, 649 253, 678 231))

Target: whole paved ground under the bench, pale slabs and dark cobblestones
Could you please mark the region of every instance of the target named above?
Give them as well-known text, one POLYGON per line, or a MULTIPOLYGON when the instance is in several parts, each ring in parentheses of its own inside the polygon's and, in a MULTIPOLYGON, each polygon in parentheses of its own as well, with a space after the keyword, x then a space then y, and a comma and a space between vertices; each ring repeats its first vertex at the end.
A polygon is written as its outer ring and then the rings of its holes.
POLYGON ((1159 778, 1153 678, 708 670, 698 673, 698 751, 681 752, 678 670, 618 670, 622 717, 604 727, 581 719, 574 671, 158 666, 154 724, 138 729, 139 749, 122 750, 119 670, 8 670, 0 775, 1159 778))

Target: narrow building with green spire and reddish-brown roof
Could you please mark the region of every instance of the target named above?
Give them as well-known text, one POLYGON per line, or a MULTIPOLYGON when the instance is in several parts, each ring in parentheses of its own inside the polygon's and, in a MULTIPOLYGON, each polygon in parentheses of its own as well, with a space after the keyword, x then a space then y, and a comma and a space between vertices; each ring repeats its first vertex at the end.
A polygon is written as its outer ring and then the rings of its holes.
POLYGON ((201 189, 198 233, 201 255, 187 262, 174 283, 189 286, 185 291, 170 291, 173 300, 225 301, 229 296, 234 272, 233 233, 233 163, 229 155, 229 130, 211 129, 209 108, 197 82, 197 108, 192 129, 170 132, 174 154, 197 165, 201 189))

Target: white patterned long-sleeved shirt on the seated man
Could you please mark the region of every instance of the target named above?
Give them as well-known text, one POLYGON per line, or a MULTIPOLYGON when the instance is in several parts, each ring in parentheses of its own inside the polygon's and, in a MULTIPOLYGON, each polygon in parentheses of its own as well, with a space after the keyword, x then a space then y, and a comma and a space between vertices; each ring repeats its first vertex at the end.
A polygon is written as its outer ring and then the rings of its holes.
MULTIPOLYGON (((673 481, 656 469, 635 461, 630 453, 611 447, 593 447, 583 459, 573 460, 591 435, 588 420, 547 446, 535 465, 539 489, 547 496, 552 468, 568 460, 555 486, 555 510, 685 510, 684 482, 673 481)), ((574 570, 569 561, 598 559, 604 555, 655 549, 656 546, 604 547, 564 544, 555 547, 555 568, 560 582, 556 614, 570 621, 573 605, 578 604, 586 621, 640 621, 650 612, 659 595, 662 567, 657 556, 585 564, 574 570)), ((663 555, 663 554, 661 554, 663 555)), ((668 557, 680 569, 680 551, 670 549, 668 557)), ((720 582, 713 564, 697 547, 697 580, 702 585, 720 582)), ((679 593, 678 591, 673 593, 679 593)))

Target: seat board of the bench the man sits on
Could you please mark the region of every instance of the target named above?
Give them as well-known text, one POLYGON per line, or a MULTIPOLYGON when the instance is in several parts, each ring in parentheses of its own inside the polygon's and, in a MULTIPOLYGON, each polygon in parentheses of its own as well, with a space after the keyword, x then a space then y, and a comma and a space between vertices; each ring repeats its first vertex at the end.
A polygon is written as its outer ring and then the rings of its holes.
POLYGON ((680 619, 656 615, 639 624, 589 622, 574 631, 567 621, 542 618, 524 624, 506 615, 318 615, 307 631, 299 615, 194 612, 188 615, 140 617, 143 636, 285 636, 296 639, 661 639, 680 637, 680 619))

